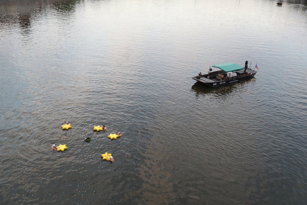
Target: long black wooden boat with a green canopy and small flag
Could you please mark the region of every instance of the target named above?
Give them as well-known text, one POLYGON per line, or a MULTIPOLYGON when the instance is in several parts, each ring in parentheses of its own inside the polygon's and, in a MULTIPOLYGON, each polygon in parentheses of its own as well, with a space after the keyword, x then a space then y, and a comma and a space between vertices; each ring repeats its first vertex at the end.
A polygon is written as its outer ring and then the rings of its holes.
POLYGON ((202 75, 202 72, 200 72, 197 76, 192 77, 192 79, 204 83, 207 86, 218 87, 250 79, 256 73, 257 71, 255 69, 247 68, 247 65, 245 65, 245 68, 242 68, 240 65, 234 63, 222 63, 210 66, 208 74, 202 75))

